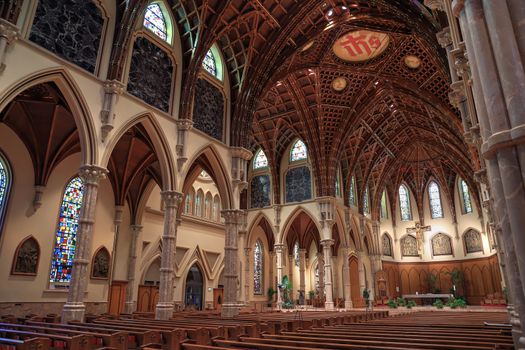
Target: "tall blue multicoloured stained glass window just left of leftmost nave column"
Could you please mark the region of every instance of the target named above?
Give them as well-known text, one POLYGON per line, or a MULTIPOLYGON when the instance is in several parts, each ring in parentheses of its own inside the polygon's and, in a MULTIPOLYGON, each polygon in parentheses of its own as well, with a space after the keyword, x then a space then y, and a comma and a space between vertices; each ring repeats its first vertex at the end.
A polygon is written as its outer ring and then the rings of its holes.
POLYGON ((71 279, 83 190, 82 179, 76 177, 71 180, 64 192, 51 260, 50 282, 67 283, 71 279))

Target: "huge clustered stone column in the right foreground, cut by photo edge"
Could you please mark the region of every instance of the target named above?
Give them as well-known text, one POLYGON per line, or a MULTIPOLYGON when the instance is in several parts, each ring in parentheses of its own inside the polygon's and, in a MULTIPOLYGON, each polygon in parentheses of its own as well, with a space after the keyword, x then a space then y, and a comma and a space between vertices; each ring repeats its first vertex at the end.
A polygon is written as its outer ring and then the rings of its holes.
MULTIPOLYGON (((512 22, 518 19, 516 16, 523 22, 525 14, 523 11, 520 15, 515 13, 511 20, 508 6, 513 4, 516 2, 455 1, 454 13, 459 15, 468 58, 472 62, 472 89, 483 141, 480 155, 487 165, 498 226, 508 258, 505 265, 509 291, 514 293, 514 306, 523 334, 525 314, 520 310, 523 310, 525 299, 525 257, 519 252, 525 246, 522 234, 525 227, 522 131, 525 70, 519 53, 520 41, 516 40, 519 35, 516 33, 520 31, 514 31, 512 22), (516 253, 515 265, 511 263, 512 251, 516 253)), ((519 330, 513 329, 513 332, 518 347, 516 334, 519 330)), ((519 343, 525 344, 522 335, 519 343)))

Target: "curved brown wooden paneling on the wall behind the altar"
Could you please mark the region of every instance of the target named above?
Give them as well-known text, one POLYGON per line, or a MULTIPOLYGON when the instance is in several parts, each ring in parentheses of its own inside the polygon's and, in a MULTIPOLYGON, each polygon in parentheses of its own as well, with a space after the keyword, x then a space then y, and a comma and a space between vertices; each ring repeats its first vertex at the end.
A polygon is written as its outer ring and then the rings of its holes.
POLYGON ((400 263, 383 261, 389 297, 403 294, 435 292, 429 288, 429 276, 437 276, 436 288, 448 293, 452 288, 450 272, 463 272, 463 285, 456 286, 458 295, 467 297, 469 304, 477 305, 487 294, 502 292, 501 274, 496 255, 462 261, 400 263), (396 292, 399 287, 399 292, 396 292))

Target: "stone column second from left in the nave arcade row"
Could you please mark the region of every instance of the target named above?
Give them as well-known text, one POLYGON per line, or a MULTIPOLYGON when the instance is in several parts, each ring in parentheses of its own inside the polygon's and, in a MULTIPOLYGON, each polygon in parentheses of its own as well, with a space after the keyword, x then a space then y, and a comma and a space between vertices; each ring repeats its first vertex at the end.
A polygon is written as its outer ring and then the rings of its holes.
POLYGON ((175 249, 177 239, 177 210, 184 194, 176 191, 161 192, 164 202, 164 232, 162 234, 162 255, 160 258, 159 302, 155 318, 169 320, 173 317, 173 288, 175 249))

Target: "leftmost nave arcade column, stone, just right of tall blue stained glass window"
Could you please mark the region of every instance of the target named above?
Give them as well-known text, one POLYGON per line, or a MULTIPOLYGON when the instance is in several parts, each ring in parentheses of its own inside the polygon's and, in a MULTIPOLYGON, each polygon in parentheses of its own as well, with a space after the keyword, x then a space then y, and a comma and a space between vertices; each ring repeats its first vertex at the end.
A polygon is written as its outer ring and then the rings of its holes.
POLYGON ((82 208, 78 220, 77 243, 73 270, 69 282, 67 302, 62 310, 62 322, 84 320, 86 305, 83 302, 89 280, 88 265, 91 256, 91 237, 95 223, 95 208, 97 205, 98 183, 105 178, 107 170, 95 165, 85 165, 80 168, 79 176, 84 183, 82 208))

